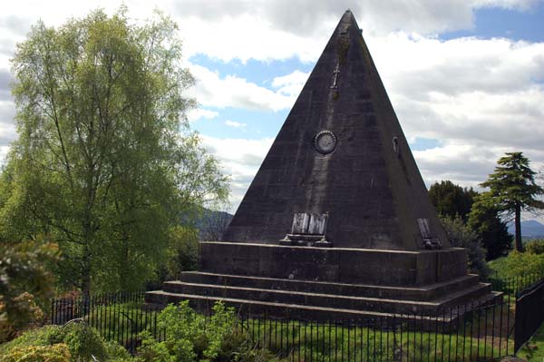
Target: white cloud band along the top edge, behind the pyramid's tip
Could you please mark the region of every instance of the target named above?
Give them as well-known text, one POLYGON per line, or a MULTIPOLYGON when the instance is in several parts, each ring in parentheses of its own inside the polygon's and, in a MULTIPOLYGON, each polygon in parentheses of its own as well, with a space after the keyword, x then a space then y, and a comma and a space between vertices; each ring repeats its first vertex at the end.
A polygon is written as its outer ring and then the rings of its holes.
MULTIPOLYGON (((470 28, 480 7, 503 7, 525 11, 538 0, 21 0, 3 6, 0 44, 15 50, 15 41, 38 19, 48 25, 63 24, 69 17, 104 7, 110 14, 121 4, 138 20, 158 7, 180 24, 185 54, 208 54, 224 61, 271 60, 296 56, 314 61, 345 9, 354 12, 365 34, 439 34, 470 28), (9 41, 9 42, 8 42, 9 41)), ((4 52, 0 45, 0 52, 4 52)), ((9 55, 6 55, 6 58, 9 55)), ((1 64, 1 62, 0 62, 1 64)))

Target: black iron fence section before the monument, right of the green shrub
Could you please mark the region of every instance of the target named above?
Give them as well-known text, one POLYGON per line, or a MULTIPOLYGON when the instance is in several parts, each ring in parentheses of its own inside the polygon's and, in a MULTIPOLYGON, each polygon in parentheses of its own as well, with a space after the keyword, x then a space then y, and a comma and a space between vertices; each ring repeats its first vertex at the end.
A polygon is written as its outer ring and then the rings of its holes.
POLYGON ((433 315, 308 322, 241 319, 258 347, 291 361, 485 361, 513 351, 505 302, 433 315))

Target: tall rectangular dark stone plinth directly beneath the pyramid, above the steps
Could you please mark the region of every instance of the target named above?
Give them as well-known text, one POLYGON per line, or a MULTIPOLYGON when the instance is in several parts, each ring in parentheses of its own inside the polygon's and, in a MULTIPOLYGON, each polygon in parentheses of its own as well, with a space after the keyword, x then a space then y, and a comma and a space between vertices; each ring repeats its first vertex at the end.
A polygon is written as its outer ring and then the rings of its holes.
POLYGON ((421 286, 466 275, 466 249, 321 249, 201 242, 202 271, 279 279, 421 286))

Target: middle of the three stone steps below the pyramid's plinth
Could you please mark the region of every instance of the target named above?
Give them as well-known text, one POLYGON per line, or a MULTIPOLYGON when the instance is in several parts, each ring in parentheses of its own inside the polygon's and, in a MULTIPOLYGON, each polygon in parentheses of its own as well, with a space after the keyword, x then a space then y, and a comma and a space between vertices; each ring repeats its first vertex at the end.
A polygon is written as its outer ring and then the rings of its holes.
POLYGON ((479 283, 468 289, 461 289, 450 293, 448 298, 431 301, 342 296, 294 290, 242 288, 227 285, 188 283, 184 281, 165 282, 163 290, 170 293, 203 297, 248 299, 303 306, 375 310, 390 313, 414 313, 416 311, 433 312, 441 308, 459 305, 465 300, 480 298, 489 293, 491 287, 488 284, 479 283))

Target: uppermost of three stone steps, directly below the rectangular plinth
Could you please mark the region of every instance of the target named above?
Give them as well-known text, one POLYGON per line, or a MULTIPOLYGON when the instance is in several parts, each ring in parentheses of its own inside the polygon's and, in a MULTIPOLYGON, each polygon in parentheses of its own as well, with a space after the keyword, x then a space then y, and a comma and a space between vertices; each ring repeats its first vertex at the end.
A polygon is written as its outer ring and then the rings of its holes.
POLYGON ((479 276, 469 274, 460 278, 430 284, 423 287, 387 287, 364 284, 345 284, 297 279, 275 279, 185 271, 180 281, 220 286, 309 291, 320 294, 344 295, 369 298, 396 298, 406 300, 431 300, 441 298, 452 291, 467 289, 478 284, 479 276))

